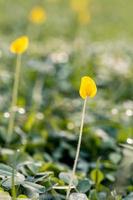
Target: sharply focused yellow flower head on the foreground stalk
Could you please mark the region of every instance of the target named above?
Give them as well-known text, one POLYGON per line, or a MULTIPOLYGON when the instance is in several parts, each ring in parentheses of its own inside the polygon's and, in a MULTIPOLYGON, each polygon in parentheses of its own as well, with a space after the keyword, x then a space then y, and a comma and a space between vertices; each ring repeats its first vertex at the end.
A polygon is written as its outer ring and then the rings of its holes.
POLYGON ((97 93, 97 87, 95 81, 89 76, 83 76, 81 78, 79 94, 83 99, 87 97, 94 97, 97 93))

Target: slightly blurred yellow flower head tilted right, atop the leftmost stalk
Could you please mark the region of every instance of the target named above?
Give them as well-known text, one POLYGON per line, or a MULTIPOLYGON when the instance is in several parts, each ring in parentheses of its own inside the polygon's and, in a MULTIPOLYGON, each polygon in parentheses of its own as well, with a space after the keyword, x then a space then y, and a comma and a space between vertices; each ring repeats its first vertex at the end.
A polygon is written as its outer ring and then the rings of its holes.
POLYGON ((13 41, 10 45, 10 51, 15 54, 24 53, 29 46, 29 38, 27 36, 21 36, 13 41))

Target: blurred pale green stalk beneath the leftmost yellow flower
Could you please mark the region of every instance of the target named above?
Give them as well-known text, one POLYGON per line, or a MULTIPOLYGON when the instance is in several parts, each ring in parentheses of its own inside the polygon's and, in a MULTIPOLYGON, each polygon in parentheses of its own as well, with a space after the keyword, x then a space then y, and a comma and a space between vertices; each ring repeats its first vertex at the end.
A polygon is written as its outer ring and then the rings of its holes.
POLYGON ((17 98, 18 98, 18 86, 19 86, 19 80, 20 80, 20 69, 21 69, 21 54, 17 55, 16 60, 16 70, 14 75, 14 85, 13 85, 13 92, 12 92, 12 102, 11 102, 11 108, 10 108, 10 118, 9 118, 9 124, 8 124, 8 131, 7 131, 7 143, 10 143, 13 129, 14 129, 14 122, 15 122, 15 107, 17 104, 17 98))

